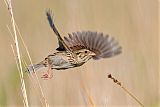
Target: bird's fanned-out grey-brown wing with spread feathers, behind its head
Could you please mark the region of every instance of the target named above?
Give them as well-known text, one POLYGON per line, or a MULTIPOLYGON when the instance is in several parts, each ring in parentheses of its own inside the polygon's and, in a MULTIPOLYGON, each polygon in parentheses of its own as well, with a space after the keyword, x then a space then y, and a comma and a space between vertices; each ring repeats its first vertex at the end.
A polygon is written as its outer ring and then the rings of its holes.
POLYGON ((96 53, 93 59, 109 58, 122 51, 121 46, 113 37, 103 33, 83 31, 68 35, 69 37, 64 37, 64 41, 72 51, 88 49, 96 53))

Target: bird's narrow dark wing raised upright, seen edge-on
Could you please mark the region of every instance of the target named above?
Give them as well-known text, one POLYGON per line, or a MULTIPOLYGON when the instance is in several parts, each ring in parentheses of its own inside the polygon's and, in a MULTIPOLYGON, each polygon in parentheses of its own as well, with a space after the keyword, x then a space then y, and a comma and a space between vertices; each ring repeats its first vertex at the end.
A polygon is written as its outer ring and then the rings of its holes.
POLYGON ((58 38, 59 47, 56 50, 58 50, 58 51, 66 51, 66 50, 71 51, 71 49, 66 45, 66 43, 62 39, 61 35, 59 34, 58 30, 56 29, 54 22, 53 22, 53 19, 52 19, 52 11, 50 9, 48 11, 46 11, 46 16, 47 16, 50 27, 52 28, 52 30, 54 31, 54 33, 57 35, 57 38, 58 38))

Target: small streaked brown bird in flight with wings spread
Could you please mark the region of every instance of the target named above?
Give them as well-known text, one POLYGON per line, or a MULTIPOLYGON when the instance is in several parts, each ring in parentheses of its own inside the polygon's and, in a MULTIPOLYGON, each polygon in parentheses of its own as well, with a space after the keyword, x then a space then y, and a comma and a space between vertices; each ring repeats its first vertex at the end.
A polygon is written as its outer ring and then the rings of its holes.
POLYGON ((79 67, 90 59, 98 60, 110 58, 122 52, 121 46, 111 36, 92 31, 68 33, 64 39, 59 34, 52 19, 52 12, 48 10, 46 16, 50 27, 58 38, 57 52, 48 55, 43 61, 29 65, 28 72, 35 72, 48 67, 42 78, 52 78, 52 69, 63 70, 79 67))

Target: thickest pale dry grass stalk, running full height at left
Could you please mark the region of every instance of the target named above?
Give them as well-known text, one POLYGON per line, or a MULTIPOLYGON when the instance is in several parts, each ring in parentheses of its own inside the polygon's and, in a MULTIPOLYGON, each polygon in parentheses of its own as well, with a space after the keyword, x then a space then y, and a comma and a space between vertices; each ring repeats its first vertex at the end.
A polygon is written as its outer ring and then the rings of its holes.
POLYGON ((20 70, 19 73, 20 73, 20 80, 21 80, 21 91, 23 95, 24 106, 29 107, 11 0, 5 1, 5 3, 7 4, 9 13, 11 15, 11 22, 12 22, 12 27, 13 27, 13 32, 14 32, 14 42, 15 42, 15 47, 16 47, 17 63, 18 63, 18 69, 20 70))

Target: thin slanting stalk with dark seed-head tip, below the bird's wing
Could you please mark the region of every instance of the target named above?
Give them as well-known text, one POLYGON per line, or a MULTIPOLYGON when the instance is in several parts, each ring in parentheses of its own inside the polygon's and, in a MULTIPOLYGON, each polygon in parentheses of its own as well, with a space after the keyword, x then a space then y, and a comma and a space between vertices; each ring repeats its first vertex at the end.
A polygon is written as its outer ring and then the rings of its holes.
POLYGON ((140 106, 144 107, 144 105, 137 99, 136 96, 134 96, 130 91, 128 91, 120 81, 115 79, 111 74, 108 74, 108 78, 112 79, 114 83, 119 85, 127 94, 129 94, 140 106))

